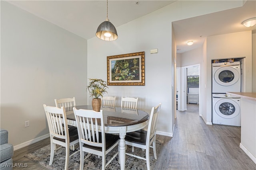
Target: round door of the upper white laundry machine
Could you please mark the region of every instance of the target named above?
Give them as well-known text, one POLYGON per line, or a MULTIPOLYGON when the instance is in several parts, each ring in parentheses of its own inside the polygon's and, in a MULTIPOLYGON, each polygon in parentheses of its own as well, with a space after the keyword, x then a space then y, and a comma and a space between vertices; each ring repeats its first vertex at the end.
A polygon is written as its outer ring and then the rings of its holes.
POLYGON ((239 72, 230 66, 222 66, 214 73, 214 80, 221 86, 232 86, 239 77, 239 72))

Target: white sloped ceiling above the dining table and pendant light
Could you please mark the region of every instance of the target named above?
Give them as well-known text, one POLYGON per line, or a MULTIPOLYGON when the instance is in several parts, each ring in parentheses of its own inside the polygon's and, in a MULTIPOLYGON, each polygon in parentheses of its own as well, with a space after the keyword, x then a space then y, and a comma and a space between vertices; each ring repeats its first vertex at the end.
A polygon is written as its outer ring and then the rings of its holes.
MULTIPOLYGON (((106 0, 7 1, 80 37, 95 37, 106 20, 106 0)), ((108 19, 115 27, 158 10, 173 0, 108 0, 108 19), (138 2, 138 3, 136 3, 138 2)))

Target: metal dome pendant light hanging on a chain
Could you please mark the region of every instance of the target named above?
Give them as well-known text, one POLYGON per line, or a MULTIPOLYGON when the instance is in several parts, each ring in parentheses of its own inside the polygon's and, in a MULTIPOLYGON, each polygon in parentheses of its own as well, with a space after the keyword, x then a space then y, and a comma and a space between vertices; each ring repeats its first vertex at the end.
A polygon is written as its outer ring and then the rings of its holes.
POLYGON ((96 36, 99 39, 105 41, 114 41, 118 38, 116 28, 114 25, 108 20, 108 0, 107 0, 107 19, 102 22, 96 31, 96 36))

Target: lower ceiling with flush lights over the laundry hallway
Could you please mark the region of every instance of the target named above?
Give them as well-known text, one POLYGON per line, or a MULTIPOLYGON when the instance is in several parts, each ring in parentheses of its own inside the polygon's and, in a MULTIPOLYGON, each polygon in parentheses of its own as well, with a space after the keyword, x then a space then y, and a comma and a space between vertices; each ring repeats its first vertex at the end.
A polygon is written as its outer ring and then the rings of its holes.
POLYGON ((244 20, 254 17, 256 17, 256 1, 250 0, 240 8, 174 21, 172 26, 177 53, 184 53, 202 47, 208 36, 249 30, 256 33, 256 25, 249 28, 242 25, 244 20), (194 41, 194 44, 189 46, 187 45, 188 41, 194 41))

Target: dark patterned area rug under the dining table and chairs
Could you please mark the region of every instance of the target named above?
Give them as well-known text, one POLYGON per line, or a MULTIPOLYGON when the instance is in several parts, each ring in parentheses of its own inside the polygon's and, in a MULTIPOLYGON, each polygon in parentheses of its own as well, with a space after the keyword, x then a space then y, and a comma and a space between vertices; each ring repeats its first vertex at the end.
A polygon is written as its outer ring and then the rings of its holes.
MULTIPOLYGON (((162 150, 164 141, 156 140, 156 155, 159 157, 159 154, 162 150)), ((79 145, 75 145, 76 150, 78 150, 79 145)), ((76 151, 75 150, 75 151, 76 151)), ((118 146, 115 147, 111 152, 107 154, 106 157, 106 162, 110 160, 110 158, 117 152, 118 146)), ((132 147, 127 146, 126 152, 132 153, 132 147)), ((73 152, 70 150, 70 154, 73 152)), ((134 148, 133 154, 142 156, 146 158, 145 156, 145 150, 143 151, 142 149, 139 148, 134 148)), ((85 156, 87 153, 85 153, 85 156)), ((42 165, 45 166, 46 168, 49 168, 50 170, 63 170, 65 167, 65 148, 62 147, 61 149, 57 150, 54 153, 54 158, 52 165, 49 165, 50 162, 50 145, 43 147, 41 149, 38 149, 30 154, 25 155, 26 158, 42 165)), ((154 159, 154 152, 153 149, 150 148, 150 169, 154 170, 156 166, 157 160, 154 159)), ((69 165, 68 169, 69 170, 79 170, 79 164, 80 164, 80 153, 74 154, 70 160, 69 160, 69 165)), ((125 168, 126 170, 146 170, 147 165, 146 165, 146 160, 134 158, 132 156, 126 155, 126 163, 125 163, 125 168)), ((89 156, 86 160, 84 160, 84 170, 99 170, 102 168, 102 158, 98 158, 97 155, 91 155, 89 156)), ((118 156, 112 160, 112 162, 106 167, 106 170, 119 170, 120 169, 120 164, 118 164, 118 156)))

